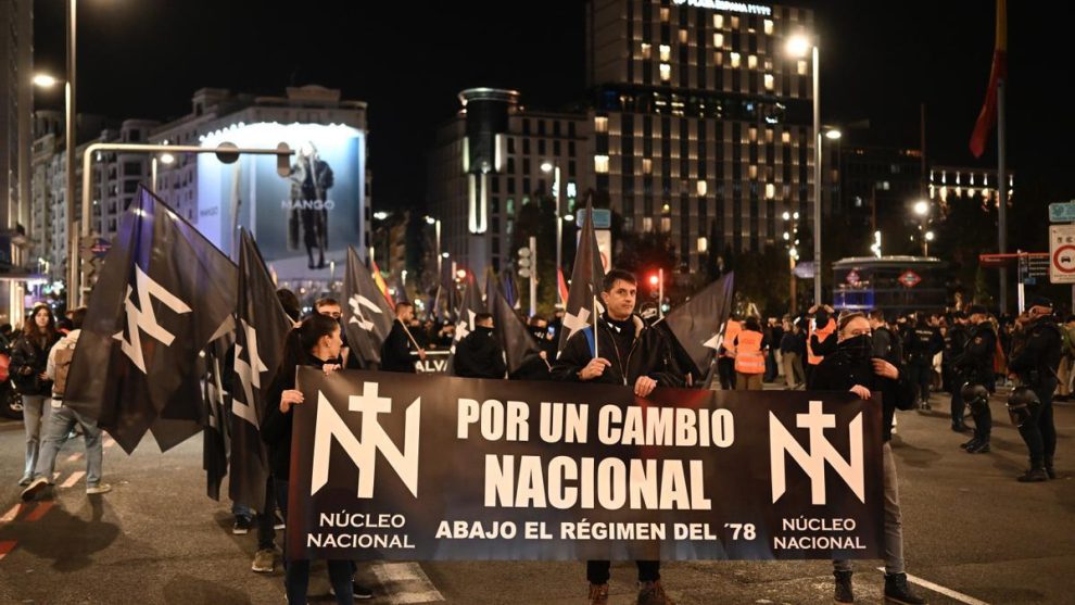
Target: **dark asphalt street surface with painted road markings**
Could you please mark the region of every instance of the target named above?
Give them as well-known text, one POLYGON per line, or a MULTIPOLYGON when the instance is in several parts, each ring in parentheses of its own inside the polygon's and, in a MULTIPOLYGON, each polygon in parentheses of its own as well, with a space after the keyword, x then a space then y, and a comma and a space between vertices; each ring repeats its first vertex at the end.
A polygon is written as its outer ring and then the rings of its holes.
MULTIPOLYGON (((992 401, 992 453, 966 454, 949 430, 947 395, 934 411, 900 413, 899 468, 908 572, 931 603, 1075 603, 1075 405, 1058 404, 1057 468, 1047 483, 1014 478, 1026 452, 1002 400, 992 401)), ((21 504, 22 425, 0 424, 0 603, 283 603, 282 571, 250 570, 254 533, 232 535, 230 504, 205 496, 200 438, 162 454, 152 439, 126 455, 105 450, 114 490, 85 493, 85 457, 59 457, 53 500, 21 504)), ((279 532, 278 532, 279 533, 279 532)), ((861 603, 881 603, 881 562, 859 562, 861 603)), ((678 604, 832 602, 827 562, 668 563, 678 604)), ((374 603, 582 604, 582 563, 363 565, 374 603)), ((634 603, 631 563, 612 568, 612 604, 634 603)), ((331 603, 315 566, 313 603, 331 603)))

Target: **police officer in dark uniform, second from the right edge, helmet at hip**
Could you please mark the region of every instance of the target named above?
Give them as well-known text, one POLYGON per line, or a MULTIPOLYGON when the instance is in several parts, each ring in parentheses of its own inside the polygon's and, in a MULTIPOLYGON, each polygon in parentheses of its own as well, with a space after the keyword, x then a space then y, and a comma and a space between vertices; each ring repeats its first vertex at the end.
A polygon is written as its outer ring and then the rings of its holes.
POLYGON ((989 393, 996 390, 992 357, 997 352, 997 332, 992 331, 985 306, 972 304, 966 312, 973 327, 962 352, 952 361, 956 382, 960 385, 952 388, 952 430, 957 430, 957 418, 962 425, 963 407, 970 405, 971 416, 974 418, 974 437, 960 448, 970 454, 986 454, 989 452, 989 436, 992 432, 989 393))

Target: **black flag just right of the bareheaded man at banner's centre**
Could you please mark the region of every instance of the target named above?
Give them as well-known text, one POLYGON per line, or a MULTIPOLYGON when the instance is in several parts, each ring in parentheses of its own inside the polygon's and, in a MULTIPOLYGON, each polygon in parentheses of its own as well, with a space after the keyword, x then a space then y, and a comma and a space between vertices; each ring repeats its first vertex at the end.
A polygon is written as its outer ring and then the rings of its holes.
POLYGON ((661 320, 675 336, 675 340, 701 375, 709 369, 709 364, 720 346, 724 323, 732 312, 734 283, 735 274, 724 275, 690 301, 673 308, 661 320))

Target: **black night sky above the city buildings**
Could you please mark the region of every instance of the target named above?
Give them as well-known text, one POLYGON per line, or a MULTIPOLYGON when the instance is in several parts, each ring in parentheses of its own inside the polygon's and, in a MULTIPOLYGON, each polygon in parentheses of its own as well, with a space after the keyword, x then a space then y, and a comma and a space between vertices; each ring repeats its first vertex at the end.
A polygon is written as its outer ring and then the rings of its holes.
MULTIPOLYGON (((63 5, 37 0, 37 68, 63 70, 63 5)), ((369 103, 374 203, 422 206, 426 152, 469 87, 509 87, 531 108, 584 98, 584 4, 548 2, 79 0, 78 109, 169 119, 191 93, 222 87, 282 96, 319 84, 369 103)), ((994 46, 991 0, 793 2, 821 28, 822 118, 869 118, 876 142, 916 146, 926 103, 931 163, 996 166, 996 140, 968 140, 994 46)), ((1016 203, 1075 198, 1075 11, 1009 4, 1009 165, 1016 203), (1016 193, 1019 196, 1019 193, 1016 193)), ((58 92, 38 106, 62 108, 58 92)), ((851 139, 853 140, 853 139, 851 139)))

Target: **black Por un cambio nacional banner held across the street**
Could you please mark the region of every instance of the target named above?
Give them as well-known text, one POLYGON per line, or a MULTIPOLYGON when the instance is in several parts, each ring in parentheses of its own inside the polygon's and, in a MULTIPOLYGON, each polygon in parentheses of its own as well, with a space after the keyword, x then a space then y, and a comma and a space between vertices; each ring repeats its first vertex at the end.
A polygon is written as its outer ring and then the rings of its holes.
MULTIPOLYGON (((301 368, 294 558, 877 558, 881 405, 301 368)), ((876 395, 875 395, 876 396, 876 395)))

